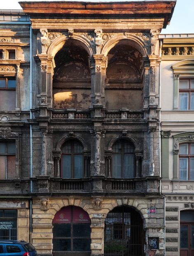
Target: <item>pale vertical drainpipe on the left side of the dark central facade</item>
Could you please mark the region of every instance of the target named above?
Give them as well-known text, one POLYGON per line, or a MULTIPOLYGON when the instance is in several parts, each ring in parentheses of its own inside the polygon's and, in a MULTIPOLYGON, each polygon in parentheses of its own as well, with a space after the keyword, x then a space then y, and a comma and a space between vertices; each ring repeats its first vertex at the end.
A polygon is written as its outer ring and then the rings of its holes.
MULTIPOLYGON (((30 24, 30 119, 32 119, 32 25, 30 24)), ((32 125, 30 125, 30 178, 32 178, 32 125)), ((30 180, 30 192, 33 192, 33 183, 30 180)), ((29 232, 30 242, 32 242, 32 199, 29 204, 30 208, 30 220, 29 220, 29 232)))

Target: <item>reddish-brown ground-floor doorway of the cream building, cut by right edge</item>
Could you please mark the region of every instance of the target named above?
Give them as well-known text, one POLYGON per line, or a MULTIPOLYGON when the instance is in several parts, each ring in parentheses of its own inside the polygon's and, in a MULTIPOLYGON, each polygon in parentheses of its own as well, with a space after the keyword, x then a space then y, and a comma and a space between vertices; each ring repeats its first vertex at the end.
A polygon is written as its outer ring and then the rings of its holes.
POLYGON ((180 212, 180 256, 194 255, 194 211, 180 212))

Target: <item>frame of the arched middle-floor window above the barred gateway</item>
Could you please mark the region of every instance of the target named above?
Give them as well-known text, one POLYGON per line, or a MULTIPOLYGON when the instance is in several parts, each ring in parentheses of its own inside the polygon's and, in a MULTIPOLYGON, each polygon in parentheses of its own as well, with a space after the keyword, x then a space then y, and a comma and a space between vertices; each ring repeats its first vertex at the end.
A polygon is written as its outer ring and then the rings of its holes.
POLYGON ((119 140, 116 140, 114 142, 114 144, 112 145, 112 164, 111 164, 111 167, 112 167, 112 178, 115 178, 114 177, 114 173, 113 173, 113 157, 114 155, 121 155, 121 178, 116 178, 116 179, 132 179, 132 178, 135 178, 135 146, 133 145, 132 142, 130 142, 129 140, 125 140, 125 139, 119 139, 119 140), (117 152, 115 153, 114 152, 114 145, 116 142, 121 142, 121 152, 117 152), (125 142, 128 142, 132 147, 133 147, 133 152, 125 152, 125 148, 124 148, 124 145, 125 145, 125 142), (126 154, 130 154, 133 156, 133 175, 132 175, 132 178, 125 178, 125 155, 126 154))

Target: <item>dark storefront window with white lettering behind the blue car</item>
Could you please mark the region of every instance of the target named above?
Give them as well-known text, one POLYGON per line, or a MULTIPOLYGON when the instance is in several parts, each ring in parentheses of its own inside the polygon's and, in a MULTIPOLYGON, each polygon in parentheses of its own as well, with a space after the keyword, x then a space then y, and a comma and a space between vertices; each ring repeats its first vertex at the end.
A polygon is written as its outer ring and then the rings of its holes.
POLYGON ((0 240, 17 240, 17 210, 0 210, 0 240))

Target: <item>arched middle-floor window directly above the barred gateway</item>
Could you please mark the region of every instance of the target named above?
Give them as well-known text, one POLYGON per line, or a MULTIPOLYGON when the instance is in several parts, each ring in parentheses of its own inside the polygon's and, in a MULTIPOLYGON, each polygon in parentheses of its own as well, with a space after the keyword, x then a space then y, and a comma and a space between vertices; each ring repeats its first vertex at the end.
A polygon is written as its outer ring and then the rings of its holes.
POLYGON ((134 177, 134 146, 127 140, 117 140, 113 147, 113 178, 134 177))

